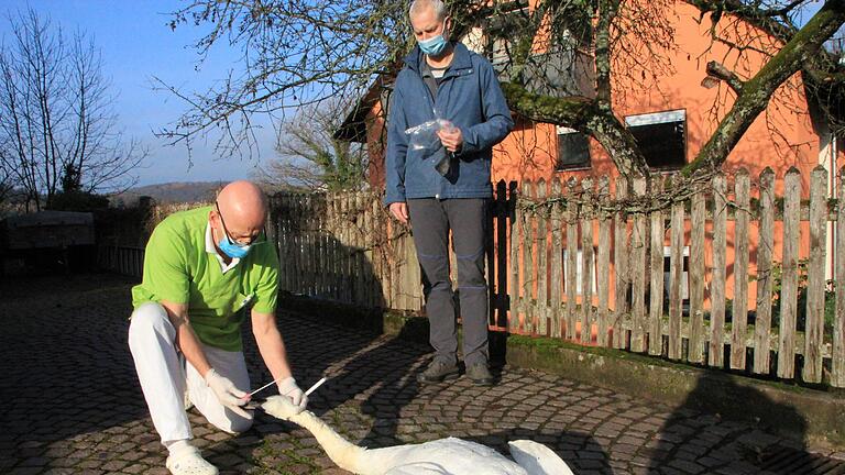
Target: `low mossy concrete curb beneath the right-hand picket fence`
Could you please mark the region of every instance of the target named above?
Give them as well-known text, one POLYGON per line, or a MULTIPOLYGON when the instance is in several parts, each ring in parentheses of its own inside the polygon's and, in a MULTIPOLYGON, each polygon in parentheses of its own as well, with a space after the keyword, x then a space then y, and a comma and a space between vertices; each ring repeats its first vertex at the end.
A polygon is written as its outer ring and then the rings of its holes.
POLYGON ((765 426, 808 444, 845 448, 845 398, 841 395, 615 350, 573 347, 550 339, 508 338, 507 362, 629 395, 647 395, 673 408, 765 426))

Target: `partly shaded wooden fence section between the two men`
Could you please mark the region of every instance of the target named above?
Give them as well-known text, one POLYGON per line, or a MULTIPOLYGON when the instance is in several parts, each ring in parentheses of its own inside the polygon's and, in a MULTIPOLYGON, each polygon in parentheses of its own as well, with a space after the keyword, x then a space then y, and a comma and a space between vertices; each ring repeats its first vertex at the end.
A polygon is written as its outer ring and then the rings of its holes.
POLYGON ((413 240, 371 192, 277 194, 267 232, 282 290, 366 308, 419 310, 413 240))

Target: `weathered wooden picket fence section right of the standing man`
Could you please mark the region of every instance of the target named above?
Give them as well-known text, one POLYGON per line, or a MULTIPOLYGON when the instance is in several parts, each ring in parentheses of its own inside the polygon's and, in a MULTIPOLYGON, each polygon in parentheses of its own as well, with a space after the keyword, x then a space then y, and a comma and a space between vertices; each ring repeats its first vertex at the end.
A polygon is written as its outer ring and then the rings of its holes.
MULTIPOLYGON (((800 225, 801 177, 795 170, 788 173, 784 178, 782 206, 777 206, 778 200, 773 195, 775 176, 771 172, 760 176, 759 197, 755 203, 750 199, 749 176, 739 172, 735 177, 733 190, 727 189, 724 177, 717 176, 713 178, 711 192, 694 194, 689 201, 676 201, 666 209, 660 209, 656 203, 647 212, 638 211, 643 208, 643 200, 638 201, 633 212, 624 208, 616 212, 593 212, 593 208, 614 209, 607 191, 607 180, 599 181, 597 191, 593 191, 594 184, 590 180, 582 181, 580 189, 574 181, 569 181, 566 196, 573 199, 546 206, 542 212, 524 212, 520 217, 517 211, 512 235, 519 236, 522 243, 517 244, 517 240, 512 240, 512 256, 518 256, 518 251, 522 250, 523 265, 522 269, 513 265, 511 272, 513 286, 515 289, 522 286, 522 291, 512 291, 512 312, 523 314, 525 331, 546 333, 546 325, 550 324, 549 330, 553 336, 578 339, 584 344, 590 344, 595 333, 595 343, 599 345, 628 349, 633 352, 662 355, 674 361, 714 367, 748 368, 756 374, 769 374, 773 364, 777 376, 787 379, 797 376, 795 356, 801 355, 800 369, 804 382, 821 383, 824 363, 828 362, 831 385, 842 387, 845 384, 845 306, 842 292, 837 294, 833 323, 828 334, 825 334, 827 283, 824 275, 828 219, 837 224, 837 243, 834 248, 839 251, 836 251, 835 255, 842 255, 841 250, 845 250, 842 242, 845 229, 842 220, 837 220, 843 213, 841 205, 837 205, 833 217, 828 216, 826 177, 827 172, 821 168, 814 170, 811 177, 809 210, 805 210, 808 217, 804 219, 809 221, 809 235, 803 235, 805 233, 802 233, 800 225), (584 199, 584 194, 591 198, 584 199), (733 196, 733 200, 728 200, 729 196, 733 196), (684 231, 688 213, 689 238, 684 231), (734 223, 732 263, 726 262, 728 219, 734 223), (751 244, 749 228, 753 220, 756 221, 758 230, 754 236, 757 248, 755 276, 748 273, 751 244), (772 291, 776 220, 782 221, 782 236, 779 236, 782 242, 782 257, 778 263, 782 268, 779 296, 772 291), (705 232, 706 221, 712 225, 710 236, 705 232), (549 228, 550 231, 547 231, 549 228), (595 228, 599 230, 599 238, 597 248, 594 250, 592 233, 595 228), (667 230, 671 250, 668 316, 663 310, 663 250, 667 230), (550 263, 545 259, 549 235, 552 250, 566 246, 568 262, 562 266, 562 273, 559 270, 562 265, 560 252, 550 254, 550 263), (567 239, 568 236, 575 239, 567 239), (805 272, 805 323, 802 329, 797 324, 801 240, 808 240, 810 248, 805 272), (705 244, 709 244, 712 253, 712 264, 709 268, 705 244), (682 251, 688 245, 689 310, 684 316, 681 298, 684 261, 682 251), (568 270, 579 264, 575 261, 578 252, 581 253, 583 269, 580 296, 577 295, 577 273, 568 270), (594 252, 594 266, 599 276, 597 296, 591 295, 594 252), (729 322, 725 318, 725 272, 728 265, 733 268, 734 283, 729 322), (538 268, 533 269, 531 266, 538 268), (549 275, 547 267, 551 268, 548 287, 545 281, 549 275), (566 279, 562 286, 564 294, 559 280, 561 275, 566 279), (649 281, 646 276, 650 276, 649 281), (705 288, 706 277, 710 277, 709 289, 705 288), (749 277, 756 280, 757 290, 753 325, 748 322, 749 277), (611 288, 615 290, 613 296, 611 288), (779 298, 781 302, 777 316, 771 311, 775 298, 779 298), (612 299, 616 302, 614 308, 608 305, 612 299), (772 324, 776 321, 773 317, 777 317, 779 322, 777 325, 772 324), (746 362, 749 353, 753 354, 753 361, 746 362), (776 354, 773 361, 770 360, 772 353, 776 354)), ((619 185, 622 186, 616 187, 616 203, 624 202, 632 196, 645 197, 644 180, 634 181, 633 192, 628 192, 624 184, 619 185)), ((545 184, 540 183, 535 191, 535 187, 526 183, 523 186, 523 195, 546 202, 545 188, 545 184)), ((552 196, 558 196, 559 185, 552 183, 552 196)), ((842 187, 839 190, 842 194, 842 187)), ((837 259, 837 287, 841 287, 845 274, 843 264, 843 259, 837 259)), ((514 313, 509 321, 512 331, 517 329, 518 323, 513 317, 514 313)))

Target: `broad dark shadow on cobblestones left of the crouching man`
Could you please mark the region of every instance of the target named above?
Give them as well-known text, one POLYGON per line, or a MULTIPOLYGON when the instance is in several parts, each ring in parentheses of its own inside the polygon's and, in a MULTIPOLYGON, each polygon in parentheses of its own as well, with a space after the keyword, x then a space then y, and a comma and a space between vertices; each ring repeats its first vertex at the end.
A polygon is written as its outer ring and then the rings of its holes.
POLYGON ((0 472, 51 442, 145 416, 127 346, 130 286, 106 274, 3 281, 0 472))

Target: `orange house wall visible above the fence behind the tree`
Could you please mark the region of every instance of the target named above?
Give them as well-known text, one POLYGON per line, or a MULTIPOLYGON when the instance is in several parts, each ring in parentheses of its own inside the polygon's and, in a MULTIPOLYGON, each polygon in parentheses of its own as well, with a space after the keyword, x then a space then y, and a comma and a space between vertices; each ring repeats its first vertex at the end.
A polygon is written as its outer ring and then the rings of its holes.
MULTIPOLYGON (((716 129, 718 122, 711 117, 714 103, 718 99, 725 101, 716 114, 718 120, 733 104, 733 93, 726 93, 724 84, 712 89, 701 86, 702 79, 706 77, 706 64, 709 60, 718 60, 733 65, 736 54, 728 53, 726 46, 711 41, 710 20, 704 16, 698 21, 700 13, 694 7, 678 2, 674 3, 673 11, 667 10, 666 14, 674 29, 677 49, 665 51, 662 54, 669 58, 674 74, 655 77, 647 90, 636 86, 627 76, 614 75, 614 110, 621 121, 625 120, 625 115, 685 110, 687 157, 691 161, 716 129)), ((761 35, 760 32, 749 34, 761 35)), ((747 60, 737 66, 736 71, 745 78, 750 77, 765 63, 765 58, 754 52, 746 53, 744 57, 747 60)), ((636 76, 640 73, 630 71, 636 76)), ((797 75, 787 86, 778 89, 767 110, 753 123, 731 153, 724 169, 732 173, 745 167, 751 176, 758 176, 769 166, 778 176, 782 176, 790 166, 795 166, 802 172, 806 185, 809 172, 819 163, 819 136, 812 129, 806 111, 806 99, 797 75), (771 133, 767 121, 777 128, 780 134, 771 133)), ((520 125, 497 147, 498 153, 493 164, 494 181, 539 178, 548 180, 556 175, 567 178, 618 175, 613 161, 596 143, 592 144, 590 169, 555 172, 555 128, 548 124, 520 125)))

